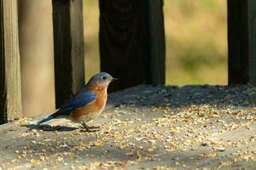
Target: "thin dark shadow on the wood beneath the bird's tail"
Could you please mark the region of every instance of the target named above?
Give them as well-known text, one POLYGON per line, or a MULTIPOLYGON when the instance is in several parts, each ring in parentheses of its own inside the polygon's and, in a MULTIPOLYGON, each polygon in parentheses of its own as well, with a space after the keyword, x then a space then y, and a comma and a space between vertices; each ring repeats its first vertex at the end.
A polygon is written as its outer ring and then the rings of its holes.
POLYGON ((67 132, 67 131, 74 131, 78 130, 78 127, 66 127, 66 126, 50 126, 50 125, 36 125, 36 124, 30 124, 30 125, 21 125, 21 127, 27 127, 28 130, 37 129, 37 130, 43 130, 43 131, 58 131, 58 132, 67 132))

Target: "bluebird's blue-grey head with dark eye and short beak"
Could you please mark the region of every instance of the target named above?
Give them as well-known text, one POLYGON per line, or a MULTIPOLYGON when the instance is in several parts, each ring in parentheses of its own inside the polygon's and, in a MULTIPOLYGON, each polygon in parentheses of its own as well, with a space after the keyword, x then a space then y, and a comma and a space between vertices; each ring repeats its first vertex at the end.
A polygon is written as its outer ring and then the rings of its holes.
POLYGON ((110 82, 118 80, 118 78, 113 78, 107 72, 100 72, 90 78, 88 85, 91 88, 108 88, 110 82))

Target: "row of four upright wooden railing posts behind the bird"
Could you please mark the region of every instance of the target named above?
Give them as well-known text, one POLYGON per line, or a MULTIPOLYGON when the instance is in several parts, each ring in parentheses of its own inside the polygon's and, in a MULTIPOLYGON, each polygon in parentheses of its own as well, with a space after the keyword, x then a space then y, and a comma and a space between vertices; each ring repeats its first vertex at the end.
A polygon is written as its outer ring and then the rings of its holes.
MULTIPOLYGON (((101 70, 121 78, 110 90, 164 84, 163 0, 99 1, 101 70)), ((52 4, 58 107, 84 85, 83 0, 52 4)), ((255 14, 254 0, 228 0, 230 85, 256 84, 255 14)), ((17 0, 0 0, 0 123, 22 114, 17 19, 17 0)))

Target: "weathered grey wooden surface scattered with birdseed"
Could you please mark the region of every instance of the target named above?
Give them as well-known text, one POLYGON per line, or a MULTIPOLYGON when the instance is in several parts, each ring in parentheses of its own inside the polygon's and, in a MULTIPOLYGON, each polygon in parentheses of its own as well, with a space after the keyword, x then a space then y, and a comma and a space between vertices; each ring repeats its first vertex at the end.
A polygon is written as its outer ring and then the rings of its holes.
POLYGON ((138 86, 110 95, 96 133, 0 126, 0 167, 255 169, 255 104, 249 86, 138 86))

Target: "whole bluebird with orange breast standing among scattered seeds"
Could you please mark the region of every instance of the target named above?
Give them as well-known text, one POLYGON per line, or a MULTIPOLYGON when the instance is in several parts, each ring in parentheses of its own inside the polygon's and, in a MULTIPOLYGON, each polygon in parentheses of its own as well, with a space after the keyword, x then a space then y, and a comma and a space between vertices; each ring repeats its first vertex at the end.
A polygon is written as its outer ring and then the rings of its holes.
POLYGON ((52 119, 65 117, 73 122, 81 123, 82 127, 90 132, 92 128, 96 127, 89 127, 86 122, 90 122, 101 114, 108 99, 108 85, 117 79, 107 72, 97 73, 73 98, 67 99, 58 111, 38 122, 38 125, 52 119))

